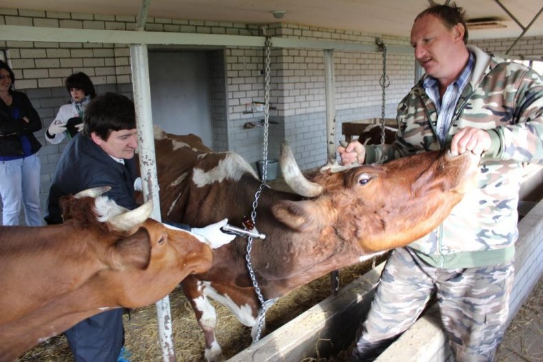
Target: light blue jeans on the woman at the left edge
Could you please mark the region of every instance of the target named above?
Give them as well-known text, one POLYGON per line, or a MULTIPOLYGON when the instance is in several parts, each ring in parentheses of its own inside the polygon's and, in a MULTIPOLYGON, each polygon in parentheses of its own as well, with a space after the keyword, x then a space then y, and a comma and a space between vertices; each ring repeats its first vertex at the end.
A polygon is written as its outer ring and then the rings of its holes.
POLYGON ((40 169, 38 155, 11 161, 0 161, 0 196, 2 224, 19 225, 21 206, 27 226, 41 226, 40 169))

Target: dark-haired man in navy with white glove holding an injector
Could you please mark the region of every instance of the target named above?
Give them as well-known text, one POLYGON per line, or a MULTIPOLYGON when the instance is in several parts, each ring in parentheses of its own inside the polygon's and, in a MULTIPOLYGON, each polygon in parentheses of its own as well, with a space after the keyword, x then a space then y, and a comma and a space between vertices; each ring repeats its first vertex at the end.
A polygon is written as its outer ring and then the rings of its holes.
MULTIPOLYGON (((105 193, 118 205, 135 209, 134 153, 137 148, 135 109, 126 96, 106 93, 85 111, 85 126, 63 151, 47 200, 47 224, 63 222, 58 200, 92 187, 109 186, 105 193)), ((220 232, 228 220, 192 232, 224 244, 234 235, 220 232)), ((183 227, 183 226, 181 226, 183 227)), ((186 227, 188 230, 190 228, 186 227)), ((76 362, 126 361, 122 356, 122 308, 85 319, 65 332, 76 362)))

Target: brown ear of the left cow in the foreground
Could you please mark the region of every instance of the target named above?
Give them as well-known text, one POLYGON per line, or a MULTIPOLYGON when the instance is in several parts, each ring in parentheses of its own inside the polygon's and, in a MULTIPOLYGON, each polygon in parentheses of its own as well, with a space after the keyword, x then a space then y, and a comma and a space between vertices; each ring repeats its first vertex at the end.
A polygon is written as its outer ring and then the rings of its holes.
POLYGON ((113 245, 113 267, 122 270, 133 266, 145 269, 151 262, 151 239, 145 228, 119 239, 113 245))

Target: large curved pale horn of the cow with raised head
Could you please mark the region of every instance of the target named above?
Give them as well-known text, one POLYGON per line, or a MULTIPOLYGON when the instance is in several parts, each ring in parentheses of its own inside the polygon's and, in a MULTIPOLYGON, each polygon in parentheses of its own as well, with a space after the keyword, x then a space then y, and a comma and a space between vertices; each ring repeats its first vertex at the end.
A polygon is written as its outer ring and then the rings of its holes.
POLYGON ((280 167, 287 185, 298 195, 315 198, 322 193, 322 186, 305 178, 294 159, 292 149, 287 141, 281 143, 280 167))

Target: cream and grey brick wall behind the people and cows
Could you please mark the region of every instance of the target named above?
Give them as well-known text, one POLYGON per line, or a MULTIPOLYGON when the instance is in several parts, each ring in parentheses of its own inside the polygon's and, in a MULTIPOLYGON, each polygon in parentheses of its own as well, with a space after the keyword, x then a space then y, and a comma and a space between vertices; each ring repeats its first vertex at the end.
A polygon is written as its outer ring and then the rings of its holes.
MULTIPOLYGON (((0 24, 95 30, 134 30, 135 17, 0 9, 0 24)), ((261 35, 257 25, 149 18, 146 30, 203 34, 261 35)), ((293 39, 375 43, 378 36, 387 45, 408 46, 408 38, 361 34, 275 23, 267 34, 293 39)), ((489 51, 504 52, 515 39, 476 43, 489 51)), ((542 39, 519 42, 523 54, 542 54, 542 39)), ((5 41, 0 50, 12 66, 16 88, 26 92, 38 109, 44 129, 38 133, 43 144, 41 198, 47 198, 56 162, 66 143, 49 145, 43 135, 58 108, 66 103, 63 82, 74 72, 91 77, 99 93, 106 91, 132 95, 130 50, 128 45, 109 43, 58 43, 5 41)), ((513 51, 513 53, 515 53, 513 51)), ((250 103, 264 99, 264 52, 254 47, 225 47, 210 52, 210 103, 212 105, 213 146, 217 151, 234 151, 247 161, 262 158, 263 128, 258 123, 263 112, 250 111, 250 103), (249 125, 249 127, 247 127, 249 125), (256 125, 257 127, 250 127, 256 125)), ((414 57, 388 53, 386 118, 395 117, 399 100, 414 83, 414 57)), ((336 93, 336 141, 343 139, 344 122, 381 116, 382 73, 380 53, 334 53, 336 93)), ((293 143, 301 169, 322 165, 326 160, 326 109, 324 97, 324 60, 321 50, 276 49, 272 47, 269 103, 269 158, 278 157, 280 142, 293 143)), ((44 202, 45 204, 45 202, 44 202)))

